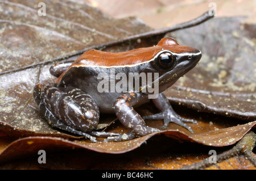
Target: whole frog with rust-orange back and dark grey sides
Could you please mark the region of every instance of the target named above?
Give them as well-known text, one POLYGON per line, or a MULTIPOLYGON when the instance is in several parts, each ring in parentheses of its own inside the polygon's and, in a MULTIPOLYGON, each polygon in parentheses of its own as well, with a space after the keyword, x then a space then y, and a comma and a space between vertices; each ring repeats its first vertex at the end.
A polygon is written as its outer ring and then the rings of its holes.
POLYGON ((187 123, 197 124, 197 121, 178 115, 164 91, 193 69, 201 56, 199 49, 180 45, 172 37, 163 37, 152 47, 126 52, 89 49, 76 61, 53 64, 50 73, 57 77, 56 81, 53 85, 37 83, 34 99, 53 128, 89 138, 92 142, 97 142, 97 137, 105 137, 106 142, 129 141, 160 131, 146 125, 144 120, 163 120, 162 129, 166 129, 169 123, 175 123, 193 133, 187 123), (117 85, 121 79, 115 75, 121 74, 125 79, 131 73, 141 76, 131 78, 139 81, 138 89, 133 86, 134 82, 124 81, 121 91, 110 91, 111 86, 117 85), (142 83, 142 75, 150 81, 142 83), (108 84, 108 78, 112 83, 108 84), (126 86, 126 83, 131 86, 126 86), (152 87, 157 88, 154 93, 152 87), (141 116, 134 109, 150 101, 159 113, 141 116), (101 113, 114 113, 129 131, 96 131, 101 113))

